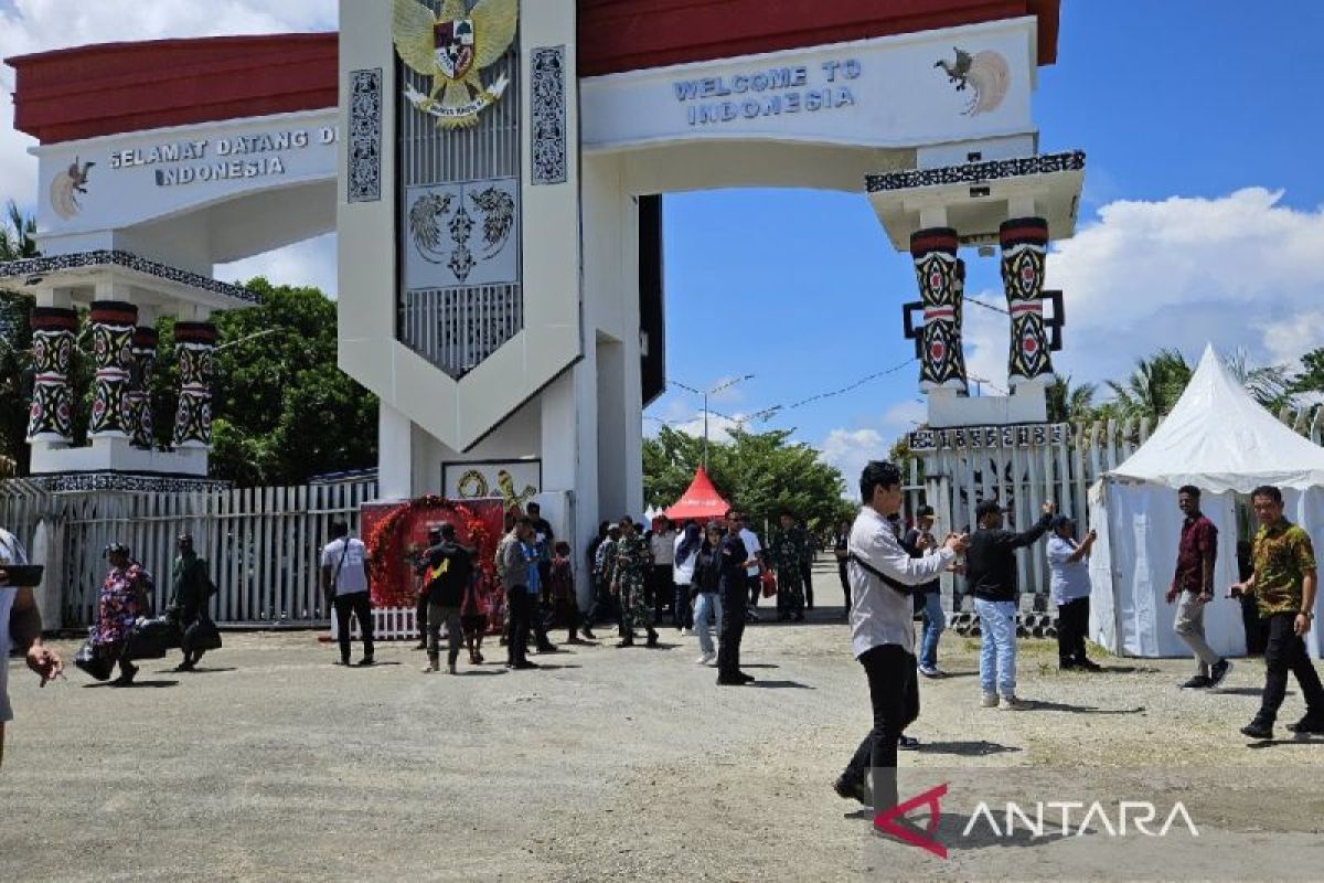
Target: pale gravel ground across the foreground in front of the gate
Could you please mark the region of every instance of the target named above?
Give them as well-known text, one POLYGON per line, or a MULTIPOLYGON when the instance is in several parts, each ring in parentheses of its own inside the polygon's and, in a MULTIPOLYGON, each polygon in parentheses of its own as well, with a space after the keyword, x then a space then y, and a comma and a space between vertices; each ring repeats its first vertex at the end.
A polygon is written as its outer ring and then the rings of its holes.
MULTIPOLYGON (((839 604, 834 573, 816 582, 821 605, 839 604)), ((902 756, 915 776, 903 796, 924 776, 952 784, 944 860, 871 835, 871 814, 830 789, 869 728, 839 610, 749 629, 751 687, 714 686, 694 638, 663 639, 535 657, 547 669, 527 673, 494 665, 493 643, 487 665, 451 678, 422 675, 422 654, 399 645, 347 670, 308 633, 228 634, 203 671, 147 663, 131 690, 70 671, 38 691, 11 661, 0 880, 1324 874, 1324 744, 1250 747, 1237 733, 1258 706, 1258 661, 1193 695, 1176 688, 1186 661, 1062 674, 1054 645, 1030 641, 1021 692, 1038 704, 1004 712, 977 707, 977 645, 945 635, 952 676, 923 682, 911 732, 927 745, 902 756), (1151 800, 1158 821, 1181 800, 1201 837, 1136 841, 1094 825, 1086 837, 957 838, 973 806, 952 812, 957 792, 1033 802, 1063 789, 1151 800)), ((69 659, 75 645, 60 649, 69 659)), ((1294 687, 1284 720, 1300 711, 1294 687)))

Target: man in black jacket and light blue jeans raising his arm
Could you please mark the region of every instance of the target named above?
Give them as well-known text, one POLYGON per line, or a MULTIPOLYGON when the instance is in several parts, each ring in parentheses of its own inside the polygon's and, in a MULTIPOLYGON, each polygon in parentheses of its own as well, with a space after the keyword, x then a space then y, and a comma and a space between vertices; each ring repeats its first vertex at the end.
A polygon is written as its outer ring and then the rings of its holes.
POLYGON ((1043 536, 1053 522, 1053 503, 1045 503, 1043 516, 1025 531, 1002 530, 1002 507, 984 500, 974 510, 978 530, 970 534, 965 553, 965 580, 974 594, 980 616, 980 687, 982 706, 1018 711, 1025 703, 1016 695, 1016 551, 1043 536))

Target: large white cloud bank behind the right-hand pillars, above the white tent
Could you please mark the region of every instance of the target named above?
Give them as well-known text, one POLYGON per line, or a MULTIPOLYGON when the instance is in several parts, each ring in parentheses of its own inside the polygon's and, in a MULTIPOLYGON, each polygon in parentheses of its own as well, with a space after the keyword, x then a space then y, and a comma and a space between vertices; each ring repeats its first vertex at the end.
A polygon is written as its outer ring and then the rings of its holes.
MULTIPOLYGON (((1246 347, 1260 364, 1295 363, 1320 346, 1324 210, 1280 200, 1253 187, 1100 209, 1049 257, 1049 286, 1066 301, 1059 371, 1078 381, 1119 377, 1160 347, 1197 359, 1206 342, 1223 352, 1246 347)), ((972 361, 989 369, 988 331, 976 327, 974 336, 972 361)))

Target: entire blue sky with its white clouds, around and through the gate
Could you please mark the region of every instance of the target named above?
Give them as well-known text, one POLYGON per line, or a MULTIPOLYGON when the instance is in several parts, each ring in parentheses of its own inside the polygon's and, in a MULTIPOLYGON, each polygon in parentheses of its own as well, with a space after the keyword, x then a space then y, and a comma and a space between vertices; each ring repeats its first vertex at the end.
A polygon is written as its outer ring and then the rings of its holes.
MULTIPOLYGON (((824 0, 830 1, 830 0, 824 0)), ((1064 0, 1058 62, 1039 69, 1045 151, 1088 155, 1082 224, 1057 244, 1061 372, 1124 373, 1160 346, 1206 340, 1253 361, 1324 346, 1319 36, 1324 3, 1064 0)), ((0 56, 111 40, 323 30, 336 0, 0 0, 0 56)), ((0 69, 0 197, 30 207, 34 164, 0 69)), ((670 375, 692 387, 756 375, 714 401, 751 414, 843 387, 911 353, 916 297, 863 196, 724 191, 667 197, 670 375)), ((332 237, 222 267, 334 290, 332 237)), ((964 256, 969 294, 1000 301, 993 258, 964 256)), ((1005 383, 1005 320, 968 311, 972 373, 1005 383)), ((756 429, 794 429, 847 474, 923 418, 914 367, 756 429)), ((691 421, 681 391, 649 414, 691 421)), ((719 421, 720 422, 720 421, 719 421)), ((646 422, 653 429, 655 421, 646 422)))

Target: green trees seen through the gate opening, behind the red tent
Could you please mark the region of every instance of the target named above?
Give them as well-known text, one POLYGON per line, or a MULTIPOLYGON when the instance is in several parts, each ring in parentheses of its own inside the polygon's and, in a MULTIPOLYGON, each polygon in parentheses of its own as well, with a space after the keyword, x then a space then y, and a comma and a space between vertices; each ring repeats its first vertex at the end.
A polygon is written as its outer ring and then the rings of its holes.
MULTIPOLYGON (((790 442, 790 430, 735 430, 727 443, 708 443, 708 475, 718 491, 756 524, 794 512, 810 528, 842 512, 846 483, 809 445, 790 442)), ((663 426, 643 441, 643 496, 666 508, 685 492, 703 459, 703 440, 663 426)))

